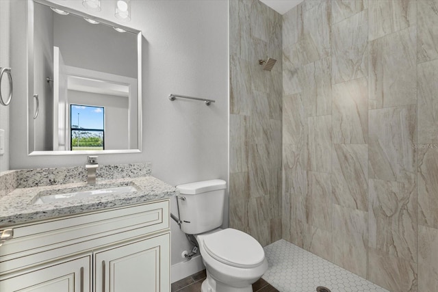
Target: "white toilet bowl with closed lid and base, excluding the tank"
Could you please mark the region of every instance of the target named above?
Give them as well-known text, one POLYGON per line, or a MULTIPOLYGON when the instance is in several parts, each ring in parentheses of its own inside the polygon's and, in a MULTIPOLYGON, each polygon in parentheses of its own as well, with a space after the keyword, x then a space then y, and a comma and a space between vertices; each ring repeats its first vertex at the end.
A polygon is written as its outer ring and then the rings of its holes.
POLYGON ((261 245, 233 228, 196 235, 207 278, 202 292, 252 292, 252 284, 268 269, 261 245))

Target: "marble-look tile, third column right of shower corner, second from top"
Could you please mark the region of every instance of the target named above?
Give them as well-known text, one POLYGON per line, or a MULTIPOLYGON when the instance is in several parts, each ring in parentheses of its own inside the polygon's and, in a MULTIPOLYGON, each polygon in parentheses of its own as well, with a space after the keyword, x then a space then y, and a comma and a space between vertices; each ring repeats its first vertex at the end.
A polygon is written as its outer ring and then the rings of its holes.
POLYGON ((367 12, 363 10, 332 27, 332 83, 368 76, 367 12))

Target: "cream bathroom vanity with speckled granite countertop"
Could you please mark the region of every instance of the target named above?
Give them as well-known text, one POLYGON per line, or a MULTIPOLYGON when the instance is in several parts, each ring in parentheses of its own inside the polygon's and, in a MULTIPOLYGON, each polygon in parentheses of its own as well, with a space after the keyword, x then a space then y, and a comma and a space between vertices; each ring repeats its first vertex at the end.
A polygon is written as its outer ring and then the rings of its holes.
POLYGON ((175 192, 153 176, 14 189, 0 198, 0 233, 13 230, 0 246, 0 291, 170 291, 175 192), (136 191, 35 204, 127 184, 136 191))

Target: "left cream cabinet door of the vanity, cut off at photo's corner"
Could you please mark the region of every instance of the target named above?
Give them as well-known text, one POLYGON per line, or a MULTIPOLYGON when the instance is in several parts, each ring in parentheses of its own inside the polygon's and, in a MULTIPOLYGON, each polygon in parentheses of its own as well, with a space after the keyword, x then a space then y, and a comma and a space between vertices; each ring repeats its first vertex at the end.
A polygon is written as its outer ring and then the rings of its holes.
POLYGON ((0 280, 1 292, 90 292, 91 255, 29 269, 0 280))

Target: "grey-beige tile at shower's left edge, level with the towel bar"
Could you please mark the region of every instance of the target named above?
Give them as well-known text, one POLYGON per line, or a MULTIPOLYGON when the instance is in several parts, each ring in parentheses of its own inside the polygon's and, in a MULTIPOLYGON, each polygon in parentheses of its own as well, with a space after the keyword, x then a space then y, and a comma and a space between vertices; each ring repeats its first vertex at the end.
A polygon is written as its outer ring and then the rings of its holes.
POLYGON ((250 115, 251 92, 250 64, 244 59, 230 56, 230 114, 250 115))

